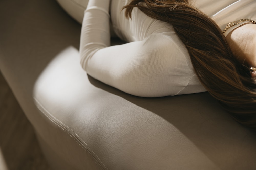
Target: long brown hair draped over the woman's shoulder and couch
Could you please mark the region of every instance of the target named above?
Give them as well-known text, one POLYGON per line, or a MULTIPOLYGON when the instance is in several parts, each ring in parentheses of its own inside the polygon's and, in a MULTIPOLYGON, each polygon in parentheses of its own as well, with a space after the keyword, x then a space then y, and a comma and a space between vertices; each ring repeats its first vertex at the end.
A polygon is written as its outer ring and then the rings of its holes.
POLYGON ((123 7, 127 18, 134 7, 172 24, 202 85, 234 119, 256 129, 256 81, 249 66, 234 57, 218 25, 189 0, 131 0, 123 7))

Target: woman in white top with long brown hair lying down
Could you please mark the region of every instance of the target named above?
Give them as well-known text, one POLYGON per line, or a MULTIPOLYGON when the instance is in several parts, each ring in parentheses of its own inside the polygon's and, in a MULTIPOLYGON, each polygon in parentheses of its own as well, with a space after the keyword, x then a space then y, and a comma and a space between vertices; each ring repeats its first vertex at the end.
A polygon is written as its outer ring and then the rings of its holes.
POLYGON ((256 129, 255 9, 254 0, 89 0, 81 64, 136 96, 208 91, 234 119, 256 129), (126 44, 110 46, 109 19, 126 44))

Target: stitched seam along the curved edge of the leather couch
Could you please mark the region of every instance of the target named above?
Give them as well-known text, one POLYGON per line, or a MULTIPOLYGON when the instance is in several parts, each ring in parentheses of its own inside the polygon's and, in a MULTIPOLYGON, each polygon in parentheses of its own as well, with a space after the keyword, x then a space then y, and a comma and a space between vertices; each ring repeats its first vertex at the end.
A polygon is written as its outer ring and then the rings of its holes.
MULTIPOLYGON (((44 106, 42 106, 42 104, 35 98, 35 97, 33 97, 34 98, 34 100, 37 102, 37 104, 39 104, 49 115, 51 115, 52 116, 52 114, 50 114, 50 112, 44 107, 44 106)), ((63 129, 59 124, 57 124, 57 122, 55 122, 54 120, 52 120, 47 114, 45 114, 44 113, 44 111, 42 111, 38 106, 36 106, 50 121, 52 121, 54 124, 56 124, 57 126, 59 126, 62 130, 64 130, 69 136, 71 136, 65 129, 63 129)), ((54 117, 54 116, 52 116, 52 117, 54 117)), ((61 122, 61 121, 60 121, 61 122)), ((62 123, 62 122, 61 122, 62 123)), ((63 125, 65 125, 64 123, 62 123, 63 125)), ((65 125, 67 128, 69 128, 67 125, 65 125)), ((70 129, 70 128, 69 128, 70 129)), ((70 130, 72 130, 72 129, 70 129, 70 130)), ((72 132, 73 133, 75 133, 73 130, 72 130, 72 132)), ((76 134, 76 133, 75 133, 76 134)), ((77 134, 76 134, 77 135, 77 134)), ((72 136, 71 136, 72 137, 72 136)), ((92 151, 92 149, 84 142, 84 140, 80 137, 80 136, 78 136, 77 135, 77 137, 79 137, 82 141, 83 141, 83 143, 92 151)), ((73 137, 72 137, 73 138, 73 137)), ((80 145, 80 143, 79 142, 81 142, 81 141, 77 141, 75 138, 73 138, 79 145, 80 145)), ((80 145, 81 146, 81 145, 80 145)), ((81 146, 82 147, 82 146, 81 146)), ((82 147, 83 149, 84 148, 86 148, 85 146, 84 147, 82 147)), ((92 155, 92 153, 86 148, 86 150, 92 155)), ((93 152, 93 151, 92 151, 93 152)), ((94 153, 94 152, 93 152, 94 153)), ((108 169, 105 165, 104 165, 104 163, 100 160, 100 158, 94 153, 94 155, 99 159, 99 161, 102 163, 102 165, 106 168, 106 169, 108 169)), ((93 156, 93 158, 95 159, 95 157, 93 156)), ((93 159, 93 161, 95 162, 95 160, 93 159)), ((99 162, 95 162, 98 166, 99 166, 99 162)), ((102 167, 102 166, 100 166, 100 167, 102 167)))

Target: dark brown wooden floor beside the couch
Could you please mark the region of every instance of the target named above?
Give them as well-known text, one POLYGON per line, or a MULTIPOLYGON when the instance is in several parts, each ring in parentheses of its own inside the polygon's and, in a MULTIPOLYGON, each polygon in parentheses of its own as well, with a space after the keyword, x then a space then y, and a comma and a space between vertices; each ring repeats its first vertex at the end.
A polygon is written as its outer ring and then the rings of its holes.
POLYGON ((0 73, 0 170, 49 170, 31 124, 0 73))

